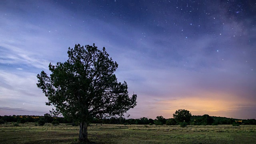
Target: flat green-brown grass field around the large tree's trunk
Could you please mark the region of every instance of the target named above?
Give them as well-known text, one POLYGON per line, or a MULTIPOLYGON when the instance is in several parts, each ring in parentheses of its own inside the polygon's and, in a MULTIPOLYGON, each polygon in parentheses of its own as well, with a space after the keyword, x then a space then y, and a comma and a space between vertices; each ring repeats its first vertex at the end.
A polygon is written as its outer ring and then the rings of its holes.
MULTIPOLYGON (((75 144, 78 126, 34 123, 0 125, 0 144, 75 144)), ((91 124, 88 138, 95 144, 256 144, 255 125, 149 126, 91 124)))

